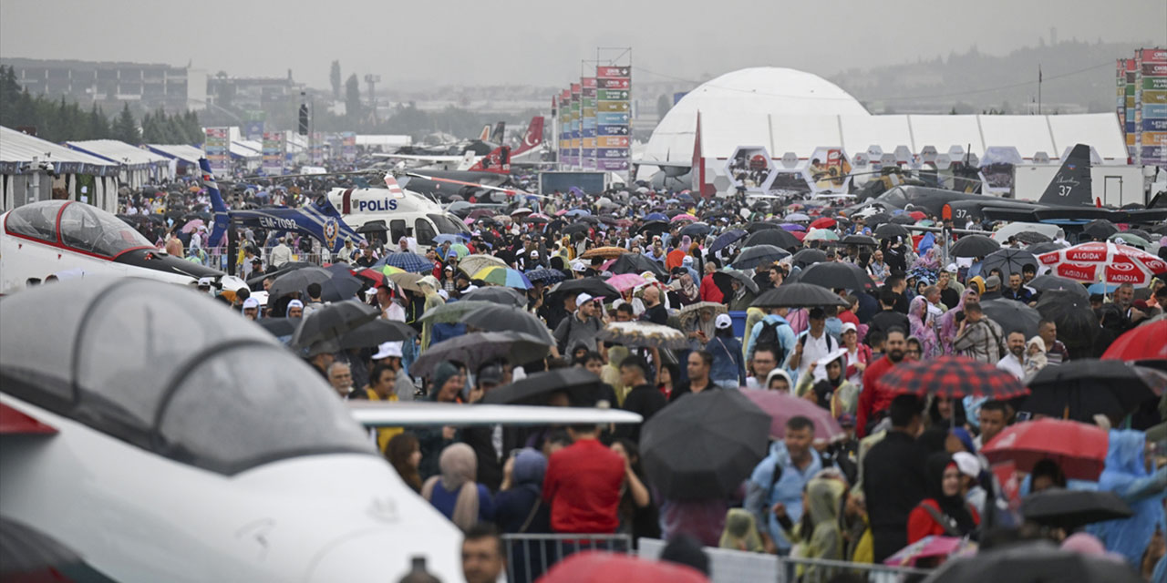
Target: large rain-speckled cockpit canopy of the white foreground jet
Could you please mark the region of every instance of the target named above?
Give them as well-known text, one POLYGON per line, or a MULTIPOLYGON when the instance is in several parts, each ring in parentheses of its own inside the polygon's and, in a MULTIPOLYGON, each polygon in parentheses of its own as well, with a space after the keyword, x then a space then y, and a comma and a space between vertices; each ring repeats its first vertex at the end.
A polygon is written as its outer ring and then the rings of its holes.
POLYGON ((0 300, 0 321, 6 393, 158 455, 236 473, 375 454, 315 370, 197 292, 84 278, 0 300))

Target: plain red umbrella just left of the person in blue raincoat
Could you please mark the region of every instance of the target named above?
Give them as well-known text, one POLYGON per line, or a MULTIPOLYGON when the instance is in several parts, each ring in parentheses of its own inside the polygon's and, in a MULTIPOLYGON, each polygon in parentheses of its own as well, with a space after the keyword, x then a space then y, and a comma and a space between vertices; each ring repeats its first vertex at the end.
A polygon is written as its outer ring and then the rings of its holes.
POLYGON ((1022 472, 1053 459, 1067 478, 1097 482, 1109 444, 1110 434, 1098 426, 1041 419, 1006 427, 980 452, 994 464, 1012 461, 1022 472))

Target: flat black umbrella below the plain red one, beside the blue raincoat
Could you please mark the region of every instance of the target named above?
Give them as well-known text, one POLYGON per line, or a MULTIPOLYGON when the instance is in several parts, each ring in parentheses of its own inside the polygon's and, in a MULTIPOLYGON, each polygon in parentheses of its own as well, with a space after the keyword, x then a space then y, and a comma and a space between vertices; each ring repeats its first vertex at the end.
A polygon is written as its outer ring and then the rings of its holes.
POLYGON ((1114 492, 1050 489, 1025 497, 1021 514, 1028 521, 1071 532, 1093 522, 1130 518, 1134 512, 1114 492))

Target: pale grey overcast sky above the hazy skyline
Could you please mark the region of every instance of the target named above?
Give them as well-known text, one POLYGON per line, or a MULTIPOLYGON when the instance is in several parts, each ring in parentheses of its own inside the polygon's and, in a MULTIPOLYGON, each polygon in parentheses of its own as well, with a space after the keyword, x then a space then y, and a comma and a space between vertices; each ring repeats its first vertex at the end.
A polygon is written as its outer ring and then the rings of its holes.
POLYGON ((633 47, 645 80, 762 64, 829 76, 973 44, 1006 54, 1048 42, 1050 27, 1060 40, 1167 45, 1167 1, 0 0, 0 56, 291 68, 317 87, 333 59, 382 86, 561 85, 598 45, 633 47))

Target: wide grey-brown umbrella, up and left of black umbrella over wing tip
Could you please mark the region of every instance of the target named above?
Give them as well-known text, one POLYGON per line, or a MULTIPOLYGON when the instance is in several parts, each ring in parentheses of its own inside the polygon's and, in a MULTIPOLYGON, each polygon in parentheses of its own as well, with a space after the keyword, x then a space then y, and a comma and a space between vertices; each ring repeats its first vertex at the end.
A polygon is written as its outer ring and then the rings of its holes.
POLYGON ((410 374, 428 377, 443 360, 466 365, 477 371, 480 366, 498 359, 513 365, 539 360, 547 356, 550 345, 540 338, 520 332, 469 332, 433 344, 410 366, 410 374))

